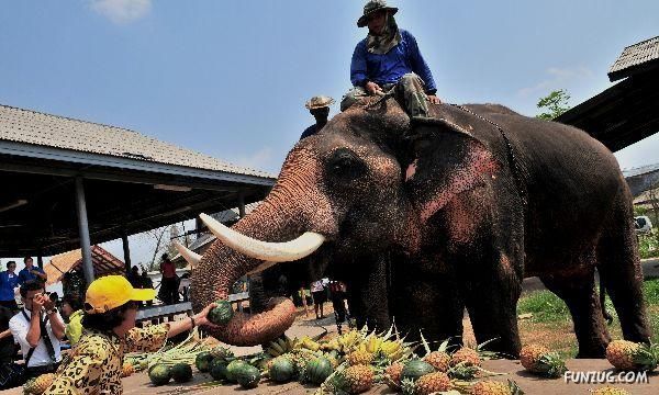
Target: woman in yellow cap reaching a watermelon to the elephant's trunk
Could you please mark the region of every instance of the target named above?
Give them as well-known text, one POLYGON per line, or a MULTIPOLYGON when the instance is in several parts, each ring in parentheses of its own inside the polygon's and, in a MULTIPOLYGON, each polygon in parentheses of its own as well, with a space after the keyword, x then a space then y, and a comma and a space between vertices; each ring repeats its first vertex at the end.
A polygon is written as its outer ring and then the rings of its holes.
POLYGON ((137 302, 155 296, 156 291, 134 289, 121 275, 93 281, 85 296, 85 332, 44 394, 121 394, 124 353, 156 351, 169 337, 212 325, 206 315, 215 304, 190 319, 136 328, 137 302))

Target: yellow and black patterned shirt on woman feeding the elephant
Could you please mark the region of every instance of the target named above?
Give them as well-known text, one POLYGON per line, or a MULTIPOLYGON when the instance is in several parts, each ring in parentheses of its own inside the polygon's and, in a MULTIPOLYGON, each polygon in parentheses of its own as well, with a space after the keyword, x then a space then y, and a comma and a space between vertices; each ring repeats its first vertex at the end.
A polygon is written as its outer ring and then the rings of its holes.
POLYGON ((124 353, 157 351, 165 345, 168 331, 168 324, 152 325, 133 328, 121 339, 86 330, 44 395, 121 394, 124 353))

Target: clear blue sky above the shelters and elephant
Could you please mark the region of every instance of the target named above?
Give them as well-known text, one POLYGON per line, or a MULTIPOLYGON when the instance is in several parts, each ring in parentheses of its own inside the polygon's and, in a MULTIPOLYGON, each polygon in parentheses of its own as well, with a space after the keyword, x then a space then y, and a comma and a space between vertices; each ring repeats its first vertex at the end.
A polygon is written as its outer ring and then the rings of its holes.
MULTIPOLYGON (((448 102, 527 115, 567 89, 611 86, 622 49, 659 34, 656 0, 390 1, 448 102)), ((304 101, 340 99, 366 35, 357 0, 4 1, 0 103, 132 128, 278 172, 313 123, 304 101)), ((338 106, 333 106, 333 113, 338 106)), ((659 161, 659 138, 618 156, 659 161)))

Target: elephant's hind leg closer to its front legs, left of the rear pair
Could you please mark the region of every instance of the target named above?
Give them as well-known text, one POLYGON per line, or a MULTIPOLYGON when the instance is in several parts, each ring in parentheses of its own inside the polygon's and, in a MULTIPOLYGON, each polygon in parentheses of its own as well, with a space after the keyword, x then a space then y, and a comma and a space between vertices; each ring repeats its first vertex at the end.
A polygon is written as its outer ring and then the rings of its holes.
POLYGON ((577 358, 604 358, 611 337, 604 324, 592 269, 581 275, 546 275, 540 280, 570 309, 579 342, 577 358))

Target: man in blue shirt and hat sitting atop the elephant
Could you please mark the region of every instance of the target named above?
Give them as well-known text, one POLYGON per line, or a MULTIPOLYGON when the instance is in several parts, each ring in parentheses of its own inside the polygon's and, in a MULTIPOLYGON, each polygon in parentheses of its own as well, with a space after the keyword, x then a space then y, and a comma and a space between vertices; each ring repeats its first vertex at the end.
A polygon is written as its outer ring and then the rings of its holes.
POLYGON ((433 74, 418 50, 416 38, 398 27, 393 18, 398 8, 388 7, 384 0, 371 0, 364 7, 357 26, 368 26, 368 35, 353 54, 350 81, 354 88, 343 98, 342 111, 369 95, 395 93, 414 120, 427 117, 428 102, 440 103, 433 74))

